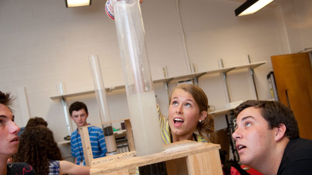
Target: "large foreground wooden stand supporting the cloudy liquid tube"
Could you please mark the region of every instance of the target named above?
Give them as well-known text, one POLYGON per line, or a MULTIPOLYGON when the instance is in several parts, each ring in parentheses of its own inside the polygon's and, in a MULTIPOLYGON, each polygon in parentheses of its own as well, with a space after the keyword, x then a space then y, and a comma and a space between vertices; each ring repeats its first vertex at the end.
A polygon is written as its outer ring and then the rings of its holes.
POLYGON ((164 145, 164 151, 136 156, 135 151, 92 160, 91 175, 130 175, 136 167, 166 162, 168 175, 222 175, 219 144, 183 140, 164 145))

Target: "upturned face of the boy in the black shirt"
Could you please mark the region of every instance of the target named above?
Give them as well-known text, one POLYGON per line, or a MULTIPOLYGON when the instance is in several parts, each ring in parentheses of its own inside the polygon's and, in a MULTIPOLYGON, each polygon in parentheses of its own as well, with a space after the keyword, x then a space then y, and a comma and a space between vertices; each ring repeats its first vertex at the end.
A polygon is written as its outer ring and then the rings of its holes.
POLYGON ((274 151, 274 130, 269 130, 259 109, 248 107, 241 111, 235 128, 232 137, 242 164, 255 167, 268 160, 270 151, 274 151))

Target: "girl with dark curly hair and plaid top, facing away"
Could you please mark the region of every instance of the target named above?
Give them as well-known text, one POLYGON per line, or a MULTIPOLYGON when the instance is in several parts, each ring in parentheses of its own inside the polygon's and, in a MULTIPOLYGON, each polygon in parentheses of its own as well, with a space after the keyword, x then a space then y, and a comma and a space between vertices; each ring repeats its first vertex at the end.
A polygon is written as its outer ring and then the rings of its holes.
POLYGON ((41 126, 30 127, 24 131, 13 160, 29 163, 38 175, 90 174, 90 167, 63 160, 52 131, 41 126))

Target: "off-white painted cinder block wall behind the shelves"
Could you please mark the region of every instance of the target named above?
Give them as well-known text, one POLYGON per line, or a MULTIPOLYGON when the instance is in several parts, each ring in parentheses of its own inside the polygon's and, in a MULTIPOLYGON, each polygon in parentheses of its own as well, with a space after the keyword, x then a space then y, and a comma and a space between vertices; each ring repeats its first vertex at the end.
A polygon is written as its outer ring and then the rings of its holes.
MULTIPOLYGON (((275 0, 277 1, 277 0, 275 0)), ((105 14, 105 0, 93 0, 91 6, 66 8, 64 0, 0 0, 0 90, 18 96, 25 87, 29 115, 48 121, 57 142, 68 135, 60 100, 51 100, 63 82, 67 93, 93 89, 88 56, 98 54, 105 87, 124 84, 115 23, 105 14)), ((270 99, 266 75, 272 71, 270 56, 295 53, 312 45, 310 0, 276 2, 254 15, 235 17, 242 2, 230 0, 179 0, 189 62, 197 71, 267 61, 255 69, 259 98, 270 99), (276 4, 277 3, 277 4, 276 4)), ((144 0, 141 4, 146 45, 153 79, 189 73, 178 20, 176 0, 144 0)), ((228 74, 233 101, 254 99, 248 70, 228 74)), ((174 83, 171 83, 173 86, 174 83)), ((224 108, 226 103, 222 77, 206 75, 199 86, 207 93, 210 105, 224 108)), ((164 115, 168 97, 164 84, 155 84, 155 93, 164 115)), ((68 98, 83 101, 89 108, 90 123, 99 123, 95 95, 68 98)), ((112 120, 128 118, 125 90, 107 93, 112 120)), ((16 100, 16 123, 27 121, 16 100)), ((72 123, 73 128, 76 125, 72 123)), ((114 127, 120 127, 114 124, 114 127)), ((216 129, 225 127, 217 117, 216 129)), ((68 145, 62 145, 65 156, 68 145)))

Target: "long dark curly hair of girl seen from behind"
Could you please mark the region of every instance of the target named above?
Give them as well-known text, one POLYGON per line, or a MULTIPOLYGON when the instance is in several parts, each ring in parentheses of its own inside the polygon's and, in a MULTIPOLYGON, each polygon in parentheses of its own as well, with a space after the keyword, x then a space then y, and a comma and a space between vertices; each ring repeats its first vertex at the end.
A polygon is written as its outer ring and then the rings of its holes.
POLYGON ((14 162, 27 162, 36 174, 49 174, 49 160, 63 160, 50 129, 42 126, 27 128, 20 138, 14 162))

